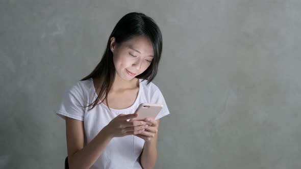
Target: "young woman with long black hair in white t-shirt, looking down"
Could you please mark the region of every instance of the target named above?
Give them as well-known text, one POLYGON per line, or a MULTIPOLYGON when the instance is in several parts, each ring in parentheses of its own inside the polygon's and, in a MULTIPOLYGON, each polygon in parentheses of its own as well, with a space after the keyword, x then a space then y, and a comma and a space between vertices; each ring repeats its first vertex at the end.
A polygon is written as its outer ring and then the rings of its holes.
POLYGON ((101 62, 66 92, 56 112, 66 121, 70 168, 154 168, 159 119, 169 114, 152 82, 161 51, 152 18, 133 12, 118 21, 101 62), (132 120, 140 103, 163 108, 155 119, 132 120))

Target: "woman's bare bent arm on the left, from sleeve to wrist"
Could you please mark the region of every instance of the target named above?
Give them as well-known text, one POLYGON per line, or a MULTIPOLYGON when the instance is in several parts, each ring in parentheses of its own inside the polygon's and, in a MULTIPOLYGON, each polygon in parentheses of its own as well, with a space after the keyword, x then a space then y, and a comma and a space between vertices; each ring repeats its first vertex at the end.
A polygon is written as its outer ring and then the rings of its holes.
POLYGON ((84 122, 66 117, 69 168, 90 168, 109 144, 112 136, 103 128, 84 147, 84 122))

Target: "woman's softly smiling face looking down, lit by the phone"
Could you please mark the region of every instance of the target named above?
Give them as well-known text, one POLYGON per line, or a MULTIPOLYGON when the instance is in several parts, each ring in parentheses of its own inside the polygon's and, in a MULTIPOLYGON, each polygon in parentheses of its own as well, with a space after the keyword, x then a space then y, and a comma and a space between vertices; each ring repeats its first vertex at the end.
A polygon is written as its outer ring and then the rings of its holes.
POLYGON ((116 44, 112 37, 110 48, 116 73, 124 80, 132 80, 143 73, 154 58, 152 42, 145 36, 134 37, 121 44, 116 44))

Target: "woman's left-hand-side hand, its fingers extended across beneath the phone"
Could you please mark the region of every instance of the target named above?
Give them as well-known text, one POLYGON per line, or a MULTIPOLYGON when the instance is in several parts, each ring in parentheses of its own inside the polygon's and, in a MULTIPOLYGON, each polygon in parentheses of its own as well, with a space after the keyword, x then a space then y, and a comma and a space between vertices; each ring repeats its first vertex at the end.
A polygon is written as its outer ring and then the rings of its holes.
POLYGON ((111 122, 105 126, 105 129, 112 138, 140 134, 147 125, 145 121, 133 121, 132 119, 136 117, 138 117, 138 114, 120 114, 111 120, 111 122))

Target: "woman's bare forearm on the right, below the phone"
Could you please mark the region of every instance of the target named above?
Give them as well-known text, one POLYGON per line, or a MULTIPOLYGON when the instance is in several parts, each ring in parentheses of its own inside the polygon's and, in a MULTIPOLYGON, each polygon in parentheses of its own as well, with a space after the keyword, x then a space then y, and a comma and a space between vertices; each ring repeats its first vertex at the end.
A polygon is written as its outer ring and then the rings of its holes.
POLYGON ((158 119, 156 121, 158 123, 157 133, 155 134, 154 138, 149 140, 149 142, 144 143, 140 157, 140 163, 143 169, 154 168, 157 161, 157 139, 160 120, 158 119))

